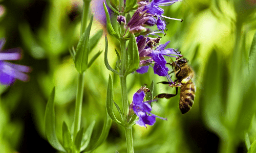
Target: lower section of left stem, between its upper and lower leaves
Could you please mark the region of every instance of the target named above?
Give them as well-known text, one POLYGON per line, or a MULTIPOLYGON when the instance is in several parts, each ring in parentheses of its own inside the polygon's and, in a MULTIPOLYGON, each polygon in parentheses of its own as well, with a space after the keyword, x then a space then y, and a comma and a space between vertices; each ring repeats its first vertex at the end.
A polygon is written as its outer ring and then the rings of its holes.
POLYGON ((80 126, 81 126, 84 75, 85 75, 85 72, 82 72, 82 73, 79 73, 79 77, 78 77, 73 140, 75 139, 75 136, 76 136, 77 132, 80 130, 80 126))

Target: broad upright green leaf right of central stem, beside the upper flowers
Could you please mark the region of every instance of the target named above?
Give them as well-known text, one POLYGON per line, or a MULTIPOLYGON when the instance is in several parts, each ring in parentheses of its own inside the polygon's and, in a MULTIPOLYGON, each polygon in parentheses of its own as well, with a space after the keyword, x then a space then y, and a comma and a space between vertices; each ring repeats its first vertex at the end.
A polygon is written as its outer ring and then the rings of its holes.
POLYGON ((138 69, 140 64, 139 50, 134 34, 132 34, 126 52, 125 74, 128 75, 138 69))

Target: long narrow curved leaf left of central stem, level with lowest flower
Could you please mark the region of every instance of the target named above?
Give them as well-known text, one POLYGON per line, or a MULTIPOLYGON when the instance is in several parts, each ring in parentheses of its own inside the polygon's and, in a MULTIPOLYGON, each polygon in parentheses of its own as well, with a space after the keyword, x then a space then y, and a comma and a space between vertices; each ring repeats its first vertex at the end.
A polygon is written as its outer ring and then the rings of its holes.
POLYGON ((106 90, 106 111, 108 112, 109 116, 111 117, 112 120, 117 122, 119 125, 122 125, 122 123, 116 118, 114 111, 113 111, 113 81, 111 75, 109 75, 109 84, 108 84, 108 89, 106 90))

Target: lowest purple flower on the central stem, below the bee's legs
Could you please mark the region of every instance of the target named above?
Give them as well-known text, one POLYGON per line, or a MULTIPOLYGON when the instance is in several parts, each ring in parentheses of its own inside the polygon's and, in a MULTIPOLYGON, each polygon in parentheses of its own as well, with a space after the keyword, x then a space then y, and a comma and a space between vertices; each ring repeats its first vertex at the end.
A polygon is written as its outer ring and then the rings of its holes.
POLYGON ((151 113, 152 107, 150 106, 150 102, 152 101, 143 101, 145 97, 144 91, 136 92, 133 95, 133 103, 131 104, 133 106, 134 113, 139 117, 139 120, 136 122, 136 124, 140 126, 153 125, 156 122, 156 117, 167 120, 166 118, 162 118, 159 116, 156 116, 155 114, 151 113))

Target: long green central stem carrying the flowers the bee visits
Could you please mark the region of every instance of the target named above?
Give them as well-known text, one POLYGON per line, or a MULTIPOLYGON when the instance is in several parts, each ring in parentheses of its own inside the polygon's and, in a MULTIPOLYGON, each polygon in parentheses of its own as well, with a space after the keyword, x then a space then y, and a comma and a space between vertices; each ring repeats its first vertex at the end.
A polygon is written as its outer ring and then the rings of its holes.
POLYGON ((125 129, 125 138, 126 138, 126 145, 127 145, 127 152, 133 153, 133 133, 132 127, 128 124, 127 117, 129 113, 129 103, 127 98, 127 86, 126 86, 126 75, 125 73, 125 58, 126 58, 126 43, 125 40, 120 40, 121 45, 121 70, 120 70, 120 84, 121 84, 121 97, 122 97, 122 109, 123 109, 123 118, 124 118, 124 129, 125 129))

